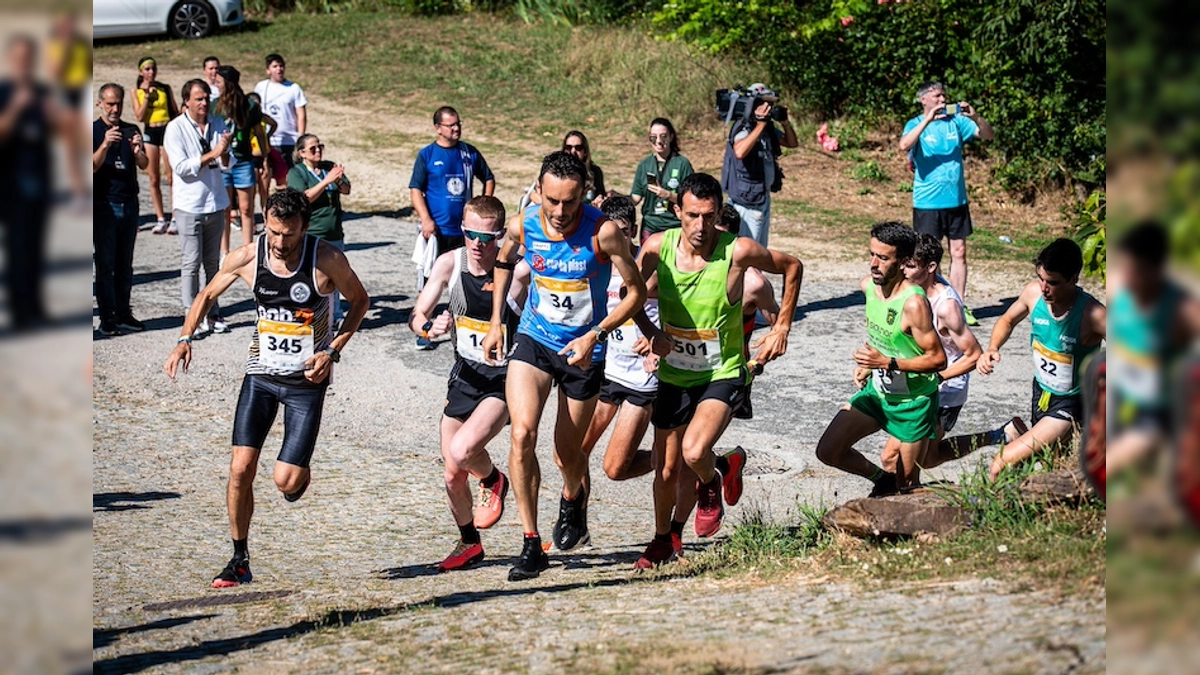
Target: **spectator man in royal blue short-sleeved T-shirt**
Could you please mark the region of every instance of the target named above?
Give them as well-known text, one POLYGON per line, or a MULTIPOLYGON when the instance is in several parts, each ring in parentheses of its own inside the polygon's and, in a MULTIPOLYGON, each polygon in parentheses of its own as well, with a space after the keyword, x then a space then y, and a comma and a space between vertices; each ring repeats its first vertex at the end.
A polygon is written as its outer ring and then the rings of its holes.
POLYGON ((421 237, 433 237, 444 253, 462 246, 462 209, 472 198, 474 179, 484 184, 484 195, 496 191, 496 177, 484 155, 460 141, 462 121, 457 110, 443 106, 433 113, 438 139, 416 155, 408 187, 413 209, 421 219, 421 237))

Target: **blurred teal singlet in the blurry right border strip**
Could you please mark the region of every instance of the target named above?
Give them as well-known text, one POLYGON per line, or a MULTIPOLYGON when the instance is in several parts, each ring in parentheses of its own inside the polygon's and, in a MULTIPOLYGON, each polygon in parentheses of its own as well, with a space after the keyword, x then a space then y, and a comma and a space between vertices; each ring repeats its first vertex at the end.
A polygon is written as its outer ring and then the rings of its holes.
POLYGON ((1168 283, 1158 301, 1142 309, 1126 288, 1112 294, 1109 382, 1122 399, 1148 408, 1165 406, 1163 369, 1175 356, 1171 331, 1181 295, 1177 286, 1168 283))

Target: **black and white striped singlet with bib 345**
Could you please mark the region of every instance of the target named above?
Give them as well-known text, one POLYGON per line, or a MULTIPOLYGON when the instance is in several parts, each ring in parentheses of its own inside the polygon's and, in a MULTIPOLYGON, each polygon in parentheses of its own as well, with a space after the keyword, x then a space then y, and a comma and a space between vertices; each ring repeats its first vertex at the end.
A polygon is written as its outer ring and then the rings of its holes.
POLYGON ((312 384, 304 378, 304 364, 329 346, 334 333, 331 294, 323 294, 317 288, 319 244, 316 237, 305 235, 300 265, 289 276, 278 276, 268 265, 266 237, 259 235, 254 255, 258 322, 250 340, 247 375, 270 375, 290 384, 312 384))

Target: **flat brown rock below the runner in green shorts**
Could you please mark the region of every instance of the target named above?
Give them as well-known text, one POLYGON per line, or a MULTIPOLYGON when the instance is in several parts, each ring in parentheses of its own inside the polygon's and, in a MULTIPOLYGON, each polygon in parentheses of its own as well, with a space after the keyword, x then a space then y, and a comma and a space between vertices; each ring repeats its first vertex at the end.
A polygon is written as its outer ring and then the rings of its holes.
POLYGON ((846 502, 826 514, 824 525, 856 537, 948 537, 967 526, 967 512, 918 491, 846 502))

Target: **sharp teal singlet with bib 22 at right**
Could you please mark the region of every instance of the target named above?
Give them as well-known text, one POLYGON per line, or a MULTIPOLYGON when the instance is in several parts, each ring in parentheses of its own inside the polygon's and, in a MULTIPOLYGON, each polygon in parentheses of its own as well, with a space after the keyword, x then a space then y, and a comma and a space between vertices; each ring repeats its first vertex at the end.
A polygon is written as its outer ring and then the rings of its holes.
POLYGON ((1075 303, 1062 317, 1050 312, 1045 298, 1038 295, 1031 313, 1030 344, 1033 347, 1033 377, 1042 389, 1057 396, 1075 396, 1080 393, 1079 371, 1084 359, 1099 348, 1079 344, 1084 311, 1093 298, 1078 288, 1075 303))

